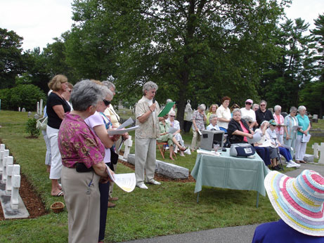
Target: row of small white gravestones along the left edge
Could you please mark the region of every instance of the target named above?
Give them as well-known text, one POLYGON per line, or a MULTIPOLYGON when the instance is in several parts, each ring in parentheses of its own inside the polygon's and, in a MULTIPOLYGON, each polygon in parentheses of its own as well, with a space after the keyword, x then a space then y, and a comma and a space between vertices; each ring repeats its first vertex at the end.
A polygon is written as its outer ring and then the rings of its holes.
POLYGON ((6 195, 11 195, 11 209, 18 209, 20 188, 20 165, 13 164, 13 157, 5 145, 0 145, 0 173, 1 183, 6 184, 6 195))

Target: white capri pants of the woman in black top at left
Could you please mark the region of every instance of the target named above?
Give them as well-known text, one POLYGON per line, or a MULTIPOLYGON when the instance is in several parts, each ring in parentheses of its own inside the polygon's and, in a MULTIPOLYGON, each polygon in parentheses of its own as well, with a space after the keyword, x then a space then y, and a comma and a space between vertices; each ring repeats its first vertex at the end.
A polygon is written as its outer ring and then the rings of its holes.
POLYGON ((47 126, 46 133, 51 143, 51 172, 49 178, 58 180, 62 171, 62 159, 60 150, 58 150, 58 129, 47 126))

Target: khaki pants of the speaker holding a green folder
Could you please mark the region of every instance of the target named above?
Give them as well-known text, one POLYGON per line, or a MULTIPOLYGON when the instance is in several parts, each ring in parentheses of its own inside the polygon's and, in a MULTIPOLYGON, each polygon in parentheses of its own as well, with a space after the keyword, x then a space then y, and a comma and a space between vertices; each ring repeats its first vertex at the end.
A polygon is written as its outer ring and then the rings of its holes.
POLYGON ((154 179, 156 161, 156 138, 135 138, 136 185, 154 179))

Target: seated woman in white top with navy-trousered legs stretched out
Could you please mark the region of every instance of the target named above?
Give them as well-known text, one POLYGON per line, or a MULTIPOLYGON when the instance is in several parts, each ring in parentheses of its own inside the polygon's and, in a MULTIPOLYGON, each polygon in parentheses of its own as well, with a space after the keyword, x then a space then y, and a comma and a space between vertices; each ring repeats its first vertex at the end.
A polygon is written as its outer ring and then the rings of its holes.
MULTIPOLYGON (((292 160, 292 155, 290 155, 290 151, 286 147, 282 147, 281 143, 277 140, 277 135, 276 135, 276 121, 270 120, 269 121, 269 128, 266 129, 266 139, 271 141, 271 147, 279 147, 279 152, 280 155, 283 155, 285 157, 286 162, 287 162, 287 167, 299 167, 300 164, 296 164, 292 160)), ((275 162, 273 164, 273 168, 278 169, 278 162, 275 162)))

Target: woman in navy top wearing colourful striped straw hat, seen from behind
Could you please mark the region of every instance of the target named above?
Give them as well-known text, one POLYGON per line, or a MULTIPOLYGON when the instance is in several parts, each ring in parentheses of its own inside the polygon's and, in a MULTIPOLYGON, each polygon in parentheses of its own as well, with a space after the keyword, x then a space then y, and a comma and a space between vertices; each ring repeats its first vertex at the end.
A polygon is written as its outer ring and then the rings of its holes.
POLYGON ((324 178, 304 170, 291 178, 271 171, 264 186, 280 220, 259 225, 252 243, 324 242, 324 178))

